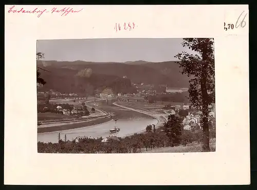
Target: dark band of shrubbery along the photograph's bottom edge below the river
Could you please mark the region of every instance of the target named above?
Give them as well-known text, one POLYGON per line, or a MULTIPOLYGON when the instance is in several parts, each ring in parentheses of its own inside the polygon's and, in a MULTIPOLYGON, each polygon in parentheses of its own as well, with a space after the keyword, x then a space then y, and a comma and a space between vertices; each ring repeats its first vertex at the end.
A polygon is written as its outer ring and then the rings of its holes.
POLYGON ((102 138, 87 138, 78 143, 73 141, 60 141, 59 143, 38 142, 39 153, 136 153, 142 148, 154 149, 155 147, 169 146, 170 142, 164 133, 134 134, 129 137, 119 138, 120 141, 111 140, 101 142, 102 138))

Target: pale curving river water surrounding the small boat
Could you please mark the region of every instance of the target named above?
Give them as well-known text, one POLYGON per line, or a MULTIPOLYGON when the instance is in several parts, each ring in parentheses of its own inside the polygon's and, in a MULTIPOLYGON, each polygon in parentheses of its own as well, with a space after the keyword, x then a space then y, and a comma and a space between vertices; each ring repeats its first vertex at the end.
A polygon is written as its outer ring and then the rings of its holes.
MULTIPOLYGON (((104 105, 99 103, 98 110, 105 113, 113 113, 115 115, 114 119, 118 119, 117 127, 120 128, 119 133, 116 134, 118 137, 125 137, 128 135, 133 135, 134 133, 140 133, 145 130, 146 126, 149 124, 157 124, 158 120, 152 116, 148 116, 144 113, 139 113, 134 110, 128 110, 125 108, 118 107, 116 105, 104 105)), ((78 136, 87 136, 91 138, 97 137, 108 137, 110 129, 115 126, 115 121, 111 120, 102 124, 97 124, 93 126, 85 126, 77 129, 70 129, 65 131, 57 131, 50 133, 40 133, 38 134, 38 141, 41 142, 58 142, 58 135, 64 140, 66 135, 66 140, 75 139, 78 136)))

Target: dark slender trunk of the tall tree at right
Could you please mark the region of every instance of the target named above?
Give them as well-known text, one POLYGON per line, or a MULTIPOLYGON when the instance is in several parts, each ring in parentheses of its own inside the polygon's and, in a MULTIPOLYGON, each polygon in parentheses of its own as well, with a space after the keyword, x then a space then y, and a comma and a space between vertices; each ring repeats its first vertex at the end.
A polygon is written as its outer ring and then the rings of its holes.
POLYGON ((209 145, 209 122, 208 122, 208 93, 207 93, 207 86, 206 86, 206 80, 207 80, 207 63, 206 61, 206 52, 203 52, 203 69, 201 72, 201 97, 203 100, 203 107, 202 107, 202 112, 203 112, 203 151, 204 152, 210 152, 210 145, 209 145))

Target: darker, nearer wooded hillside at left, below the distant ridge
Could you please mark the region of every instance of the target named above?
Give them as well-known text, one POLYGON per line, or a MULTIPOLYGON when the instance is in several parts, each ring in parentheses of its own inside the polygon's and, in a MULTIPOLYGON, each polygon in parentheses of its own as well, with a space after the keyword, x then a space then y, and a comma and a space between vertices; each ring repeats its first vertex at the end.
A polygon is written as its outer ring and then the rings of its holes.
POLYGON ((83 96, 91 96, 102 93, 105 88, 113 90, 117 93, 136 93, 136 87, 132 86, 131 80, 120 78, 119 76, 111 76, 106 74, 98 74, 92 72, 88 77, 78 76, 77 70, 48 67, 51 72, 42 72, 41 76, 47 80, 47 84, 42 90, 54 89, 61 93, 77 93, 83 96))

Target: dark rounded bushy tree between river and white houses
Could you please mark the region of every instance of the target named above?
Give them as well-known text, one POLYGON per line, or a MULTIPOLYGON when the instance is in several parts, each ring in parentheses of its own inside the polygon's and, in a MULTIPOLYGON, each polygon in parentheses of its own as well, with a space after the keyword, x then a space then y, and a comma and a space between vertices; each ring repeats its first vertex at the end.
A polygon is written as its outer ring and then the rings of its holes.
POLYGON ((181 118, 176 115, 169 115, 168 121, 163 126, 163 131, 172 145, 178 144, 182 131, 181 118))

